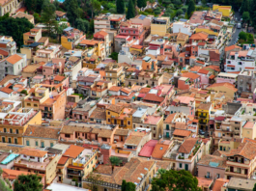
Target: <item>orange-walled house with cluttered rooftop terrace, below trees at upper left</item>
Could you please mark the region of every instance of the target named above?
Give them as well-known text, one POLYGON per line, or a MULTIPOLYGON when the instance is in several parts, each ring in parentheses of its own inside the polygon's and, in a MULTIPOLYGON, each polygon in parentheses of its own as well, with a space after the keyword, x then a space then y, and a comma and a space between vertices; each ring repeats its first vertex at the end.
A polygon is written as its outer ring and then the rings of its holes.
POLYGON ((64 29, 64 33, 61 37, 61 45, 69 50, 72 50, 83 40, 85 40, 85 35, 82 31, 68 27, 64 29))

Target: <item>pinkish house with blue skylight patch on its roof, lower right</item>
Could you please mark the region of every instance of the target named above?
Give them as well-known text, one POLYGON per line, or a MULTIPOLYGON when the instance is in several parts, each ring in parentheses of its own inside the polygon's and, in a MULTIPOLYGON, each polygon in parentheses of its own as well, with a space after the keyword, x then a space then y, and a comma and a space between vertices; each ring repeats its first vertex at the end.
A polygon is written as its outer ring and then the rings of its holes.
POLYGON ((226 158, 215 155, 204 155, 197 162, 198 177, 208 179, 224 178, 226 171, 226 158))

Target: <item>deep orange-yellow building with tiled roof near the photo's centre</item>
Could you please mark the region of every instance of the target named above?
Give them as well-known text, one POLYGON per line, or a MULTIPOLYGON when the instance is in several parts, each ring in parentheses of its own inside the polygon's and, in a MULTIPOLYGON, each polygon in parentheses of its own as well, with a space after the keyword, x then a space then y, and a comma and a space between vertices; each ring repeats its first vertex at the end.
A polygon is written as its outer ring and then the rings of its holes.
POLYGON ((132 129, 133 109, 119 105, 109 105, 106 108, 106 123, 119 124, 120 127, 132 129))

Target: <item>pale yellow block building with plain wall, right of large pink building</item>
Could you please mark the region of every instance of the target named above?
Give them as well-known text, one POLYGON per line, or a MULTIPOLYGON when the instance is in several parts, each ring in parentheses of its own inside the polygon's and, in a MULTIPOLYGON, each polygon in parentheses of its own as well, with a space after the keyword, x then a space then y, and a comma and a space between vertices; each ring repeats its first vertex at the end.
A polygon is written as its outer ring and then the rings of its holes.
POLYGON ((170 27, 169 17, 157 17, 151 23, 151 35, 165 36, 170 27))

